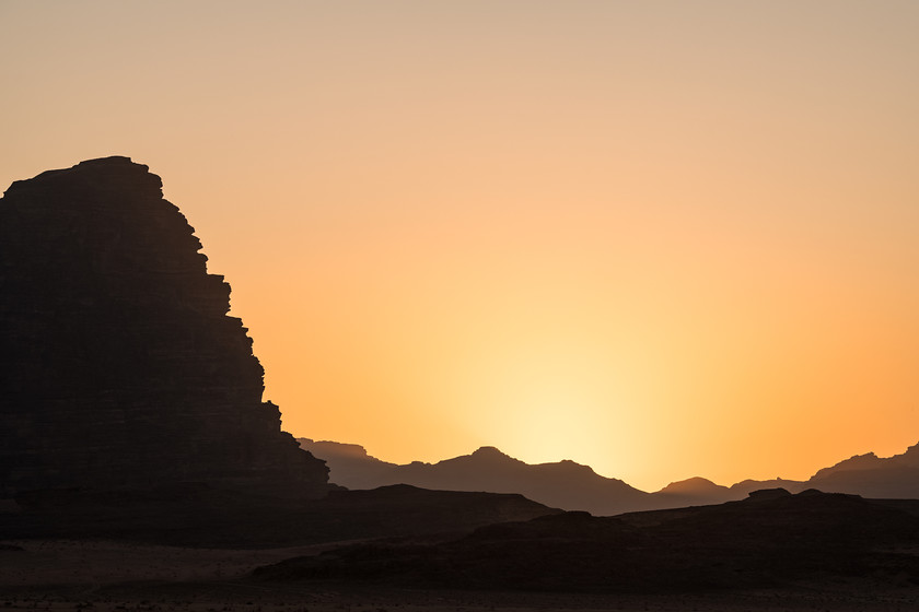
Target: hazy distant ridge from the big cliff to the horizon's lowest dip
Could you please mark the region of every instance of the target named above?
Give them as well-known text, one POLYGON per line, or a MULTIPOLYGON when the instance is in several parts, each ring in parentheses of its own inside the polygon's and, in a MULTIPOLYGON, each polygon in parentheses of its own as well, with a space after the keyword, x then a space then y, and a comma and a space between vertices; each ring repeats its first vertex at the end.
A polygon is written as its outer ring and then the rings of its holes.
POLYGON ((531 466, 497 448, 482 447, 438 463, 397 466, 370 457, 357 445, 314 443, 309 438, 299 442, 328 462, 333 482, 348 489, 405 483, 451 491, 520 493, 547 506, 597 515, 654 507, 648 493, 573 461, 531 466))

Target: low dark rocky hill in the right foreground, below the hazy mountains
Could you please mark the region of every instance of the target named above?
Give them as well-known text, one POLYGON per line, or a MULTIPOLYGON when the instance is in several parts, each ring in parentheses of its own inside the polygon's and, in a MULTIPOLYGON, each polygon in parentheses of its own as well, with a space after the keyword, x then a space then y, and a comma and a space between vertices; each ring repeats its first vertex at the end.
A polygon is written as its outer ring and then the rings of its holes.
POLYGON ((919 580, 919 502, 784 490, 718 506, 544 516, 438 543, 357 544, 255 572, 272 581, 424 588, 707 591, 799 580, 919 580))

